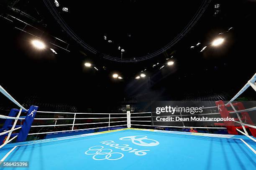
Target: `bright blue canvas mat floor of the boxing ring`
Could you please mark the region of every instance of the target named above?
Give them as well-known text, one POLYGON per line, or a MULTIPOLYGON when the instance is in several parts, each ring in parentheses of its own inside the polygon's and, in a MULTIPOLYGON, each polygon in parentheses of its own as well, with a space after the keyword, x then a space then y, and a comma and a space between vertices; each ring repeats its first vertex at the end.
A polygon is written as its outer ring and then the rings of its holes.
POLYGON ((29 161, 20 169, 31 170, 255 170, 239 138, 256 149, 240 135, 124 129, 7 144, 0 158, 29 161))

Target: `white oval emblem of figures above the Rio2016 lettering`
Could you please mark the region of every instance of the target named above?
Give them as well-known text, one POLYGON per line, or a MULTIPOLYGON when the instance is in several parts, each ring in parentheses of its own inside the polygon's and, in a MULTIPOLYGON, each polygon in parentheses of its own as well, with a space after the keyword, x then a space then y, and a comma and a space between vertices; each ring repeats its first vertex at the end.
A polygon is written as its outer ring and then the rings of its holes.
POLYGON ((131 140, 131 142, 133 144, 139 145, 139 146, 156 146, 156 145, 159 145, 159 142, 157 140, 148 139, 147 136, 127 136, 127 137, 119 138, 119 140, 131 140), (152 142, 151 143, 146 143, 146 141, 152 141, 152 142))

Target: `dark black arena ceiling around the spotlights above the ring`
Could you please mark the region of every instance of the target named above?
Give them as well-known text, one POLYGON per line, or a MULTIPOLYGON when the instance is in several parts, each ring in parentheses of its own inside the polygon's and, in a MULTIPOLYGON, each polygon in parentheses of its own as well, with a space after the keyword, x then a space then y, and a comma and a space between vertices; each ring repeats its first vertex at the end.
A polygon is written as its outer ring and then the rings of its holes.
POLYGON ((17 23, 0 17, 0 83, 20 100, 36 95, 52 102, 90 105, 95 101, 124 99, 184 100, 188 95, 215 93, 232 96, 256 70, 256 2, 252 0, 212 0, 200 20, 172 48, 151 59, 131 63, 106 60, 101 53, 121 57, 119 45, 125 50, 124 58, 158 50, 182 31, 203 1, 58 0, 61 7, 69 9, 64 12, 56 8, 59 14, 84 42, 99 51, 97 54, 74 41, 43 1, 11 2, 15 1, 1 2, 1 16, 13 15, 64 40, 70 51, 56 46, 52 47, 57 55, 48 48, 35 50, 30 43, 35 37, 16 29, 17 23), (220 11, 214 15, 216 4, 220 4, 220 11), (224 33, 218 35, 221 32, 224 33), (210 43, 216 37, 225 38, 225 43, 212 47, 210 43), (190 49, 198 42, 201 44, 190 49), (204 46, 207 48, 200 52, 204 46), (166 58, 174 65, 166 66, 166 58), (84 67, 84 62, 91 62, 98 71, 84 67), (156 63, 159 65, 152 67, 156 63), (146 77, 136 80, 145 69, 146 77), (113 79, 113 73, 123 79, 113 79))

